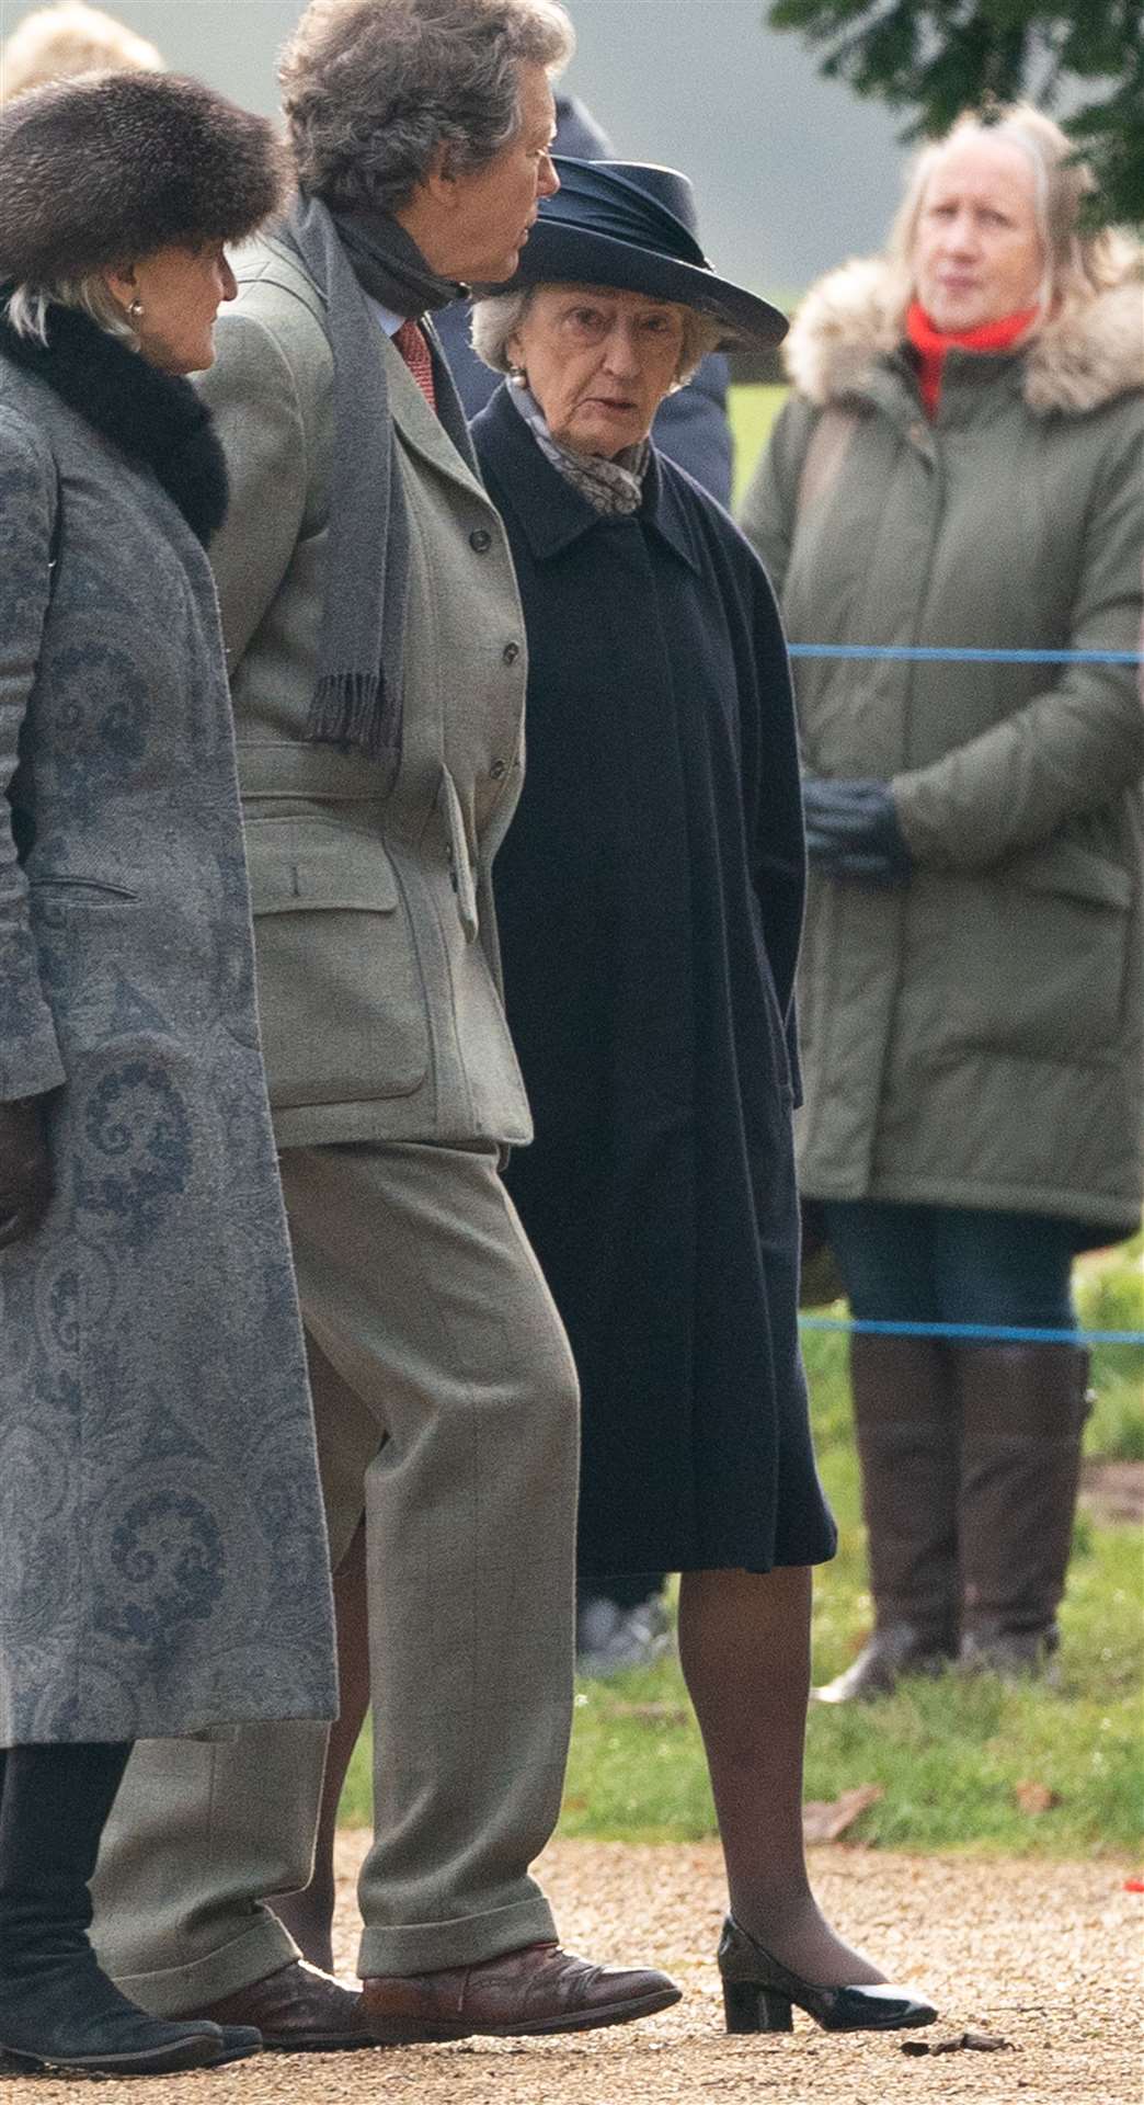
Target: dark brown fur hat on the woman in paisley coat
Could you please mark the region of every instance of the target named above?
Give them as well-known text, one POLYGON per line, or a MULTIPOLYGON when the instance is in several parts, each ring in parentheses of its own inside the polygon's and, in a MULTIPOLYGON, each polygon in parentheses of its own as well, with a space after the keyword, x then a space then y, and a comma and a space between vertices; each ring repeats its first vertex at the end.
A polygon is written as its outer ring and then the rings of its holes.
POLYGON ((200 80, 57 80, 0 112, 0 278, 59 284, 179 242, 242 240, 284 179, 271 124, 200 80))

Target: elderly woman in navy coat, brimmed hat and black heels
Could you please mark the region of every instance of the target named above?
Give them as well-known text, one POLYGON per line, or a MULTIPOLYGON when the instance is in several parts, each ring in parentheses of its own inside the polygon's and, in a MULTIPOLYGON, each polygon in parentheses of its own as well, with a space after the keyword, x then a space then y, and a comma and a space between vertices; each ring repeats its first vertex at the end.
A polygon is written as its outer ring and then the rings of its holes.
POLYGON ((580 1577, 679 1570, 728 1863, 728 2025, 927 2023, 810 1892, 810 1566, 833 1553, 797 1345, 799 762, 782 629, 730 518, 648 434, 728 337, 690 185, 557 162, 473 341, 528 623, 528 775, 496 865, 536 1141, 509 1183, 585 1391, 580 1577))

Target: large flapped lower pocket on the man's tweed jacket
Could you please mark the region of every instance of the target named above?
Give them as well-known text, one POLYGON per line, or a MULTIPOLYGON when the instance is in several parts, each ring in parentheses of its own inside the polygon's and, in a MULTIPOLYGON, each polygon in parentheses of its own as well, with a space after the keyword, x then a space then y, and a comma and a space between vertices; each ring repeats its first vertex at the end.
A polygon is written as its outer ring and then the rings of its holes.
POLYGON ((429 1017, 383 842, 326 819, 252 819, 246 855, 271 1105, 410 1097, 429 1017))

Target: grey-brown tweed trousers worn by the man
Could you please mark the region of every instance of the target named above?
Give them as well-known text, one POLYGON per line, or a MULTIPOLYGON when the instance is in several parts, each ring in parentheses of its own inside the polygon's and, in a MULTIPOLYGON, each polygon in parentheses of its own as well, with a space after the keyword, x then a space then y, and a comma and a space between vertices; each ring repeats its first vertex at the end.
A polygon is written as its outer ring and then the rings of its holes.
MULTIPOLYGON (((572 1713, 576 1375, 492 1151, 299 1147, 282 1183, 334 1564, 366 1513, 360 1972, 463 1966, 553 1934, 528 1865, 572 1713)), ((261 1901, 309 1878, 324 1753, 309 1724, 137 1747, 95 1939, 147 2010, 189 2012, 294 1956, 261 1901)))

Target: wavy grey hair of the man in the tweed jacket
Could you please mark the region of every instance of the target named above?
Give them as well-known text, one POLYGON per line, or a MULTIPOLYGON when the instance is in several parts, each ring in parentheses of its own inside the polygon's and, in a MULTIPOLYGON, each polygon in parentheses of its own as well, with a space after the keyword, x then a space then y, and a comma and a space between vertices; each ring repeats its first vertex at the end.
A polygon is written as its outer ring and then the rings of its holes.
POLYGON ((555 72, 574 42, 559 0, 311 0, 278 67, 299 185, 393 210, 442 147, 482 168, 517 135, 517 67, 555 72))

